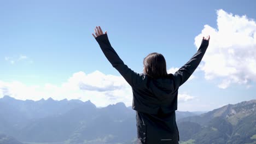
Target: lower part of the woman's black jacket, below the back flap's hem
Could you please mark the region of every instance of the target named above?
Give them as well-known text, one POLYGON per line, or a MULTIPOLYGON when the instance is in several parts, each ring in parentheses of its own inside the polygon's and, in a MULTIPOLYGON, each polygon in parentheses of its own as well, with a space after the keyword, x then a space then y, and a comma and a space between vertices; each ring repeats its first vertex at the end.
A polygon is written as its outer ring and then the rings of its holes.
POLYGON ((175 111, 149 114, 136 111, 137 137, 141 143, 178 143, 179 132, 175 111))

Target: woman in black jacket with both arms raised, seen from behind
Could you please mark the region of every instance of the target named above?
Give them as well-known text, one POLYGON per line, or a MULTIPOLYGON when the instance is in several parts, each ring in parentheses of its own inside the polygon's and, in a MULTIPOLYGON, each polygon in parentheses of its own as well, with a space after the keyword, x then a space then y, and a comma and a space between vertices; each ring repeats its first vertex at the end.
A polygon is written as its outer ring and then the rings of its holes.
POLYGON ((209 44, 203 37, 195 55, 174 74, 167 74, 164 56, 150 53, 143 61, 143 73, 127 67, 110 45, 107 31, 100 26, 92 33, 104 55, 132 87, 132 109, 136 110, 138 143, 178 143, 176 124, 178 88, 195 71, 209 44))

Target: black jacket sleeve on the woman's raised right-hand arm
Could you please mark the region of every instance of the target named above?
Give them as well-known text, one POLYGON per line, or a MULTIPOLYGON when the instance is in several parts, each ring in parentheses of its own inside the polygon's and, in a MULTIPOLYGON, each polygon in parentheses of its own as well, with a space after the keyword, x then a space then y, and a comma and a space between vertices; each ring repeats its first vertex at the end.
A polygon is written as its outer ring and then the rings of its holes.
POLYGON ((190 60, 184 64, 179 70, 174 73, 175 88, 180 87, 189 77, 193 74, 197 66, 200 64, 203 55, 205 55, 206 49, 209 45, 209 41, 202 39, 202 43, 190 60))

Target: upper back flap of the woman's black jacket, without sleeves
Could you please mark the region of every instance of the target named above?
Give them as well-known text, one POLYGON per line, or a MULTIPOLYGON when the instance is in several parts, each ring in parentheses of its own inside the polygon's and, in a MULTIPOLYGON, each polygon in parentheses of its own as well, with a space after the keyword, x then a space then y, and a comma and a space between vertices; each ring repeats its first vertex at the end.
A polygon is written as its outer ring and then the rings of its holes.
POLYGON ((140 76, 142 80, 132 87, 133 110, 154 115, 177 110, 178 87, 174 86, 172 74, 162 79, 152 79, 144 73, 140 76))

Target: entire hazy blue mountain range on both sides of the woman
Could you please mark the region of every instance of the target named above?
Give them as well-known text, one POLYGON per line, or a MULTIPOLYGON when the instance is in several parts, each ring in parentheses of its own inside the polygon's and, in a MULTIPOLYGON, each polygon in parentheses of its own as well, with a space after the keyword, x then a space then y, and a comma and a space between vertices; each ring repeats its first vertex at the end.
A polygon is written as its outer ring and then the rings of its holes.
MULTIPOLYGON (((251 100, 210 112, 176 111, 181 143, 253 143, 255 105, 251 100)), ((136 114, 124 103, 97 108, 91 101, 5 95, 0 99, 0 133, 0 144, 128 144, 136 140, 136 114)))

